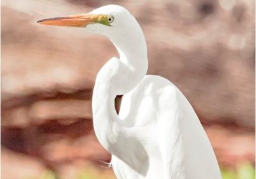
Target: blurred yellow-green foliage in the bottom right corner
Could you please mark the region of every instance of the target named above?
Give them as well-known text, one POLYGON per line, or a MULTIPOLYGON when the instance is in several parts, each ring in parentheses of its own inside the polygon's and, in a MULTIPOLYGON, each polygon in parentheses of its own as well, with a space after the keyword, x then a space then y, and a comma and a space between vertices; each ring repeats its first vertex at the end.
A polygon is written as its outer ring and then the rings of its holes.
POLYGON ((255 179, 255 167, 252 164, 243 164, 237 168, 221 169, 222 179, 255 179))

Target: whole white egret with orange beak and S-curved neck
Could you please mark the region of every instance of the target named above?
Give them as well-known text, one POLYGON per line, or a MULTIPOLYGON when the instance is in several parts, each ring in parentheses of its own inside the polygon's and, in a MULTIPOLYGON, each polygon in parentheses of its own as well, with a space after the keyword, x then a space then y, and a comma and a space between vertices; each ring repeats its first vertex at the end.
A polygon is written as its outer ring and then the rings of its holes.
POLYGON ((95 134, 112 154, 117 178, 221 178, 211 143, 186 97, 167 79, 146 75, 147 45, 131 13, 108 5, 38 22, 84 27, 115 45, 120 57, 109 59, 97 74, 92 105, 95 134), (116 95, 124 95, 119 114, 116 95))

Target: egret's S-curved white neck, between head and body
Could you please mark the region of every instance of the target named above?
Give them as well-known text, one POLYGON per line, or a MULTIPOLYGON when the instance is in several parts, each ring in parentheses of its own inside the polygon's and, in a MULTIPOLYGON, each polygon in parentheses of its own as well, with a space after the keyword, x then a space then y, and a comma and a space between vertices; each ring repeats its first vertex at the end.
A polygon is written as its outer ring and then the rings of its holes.
POLYGON ((116 154, 122 120, 115 111, 115 97, 131 91, 143 79, 148 61, 142 31, 126 38, 111 38, 111 41, 120 59, 109 60, 97 75, 92 101, 93 126, 102 146, 116 154))

